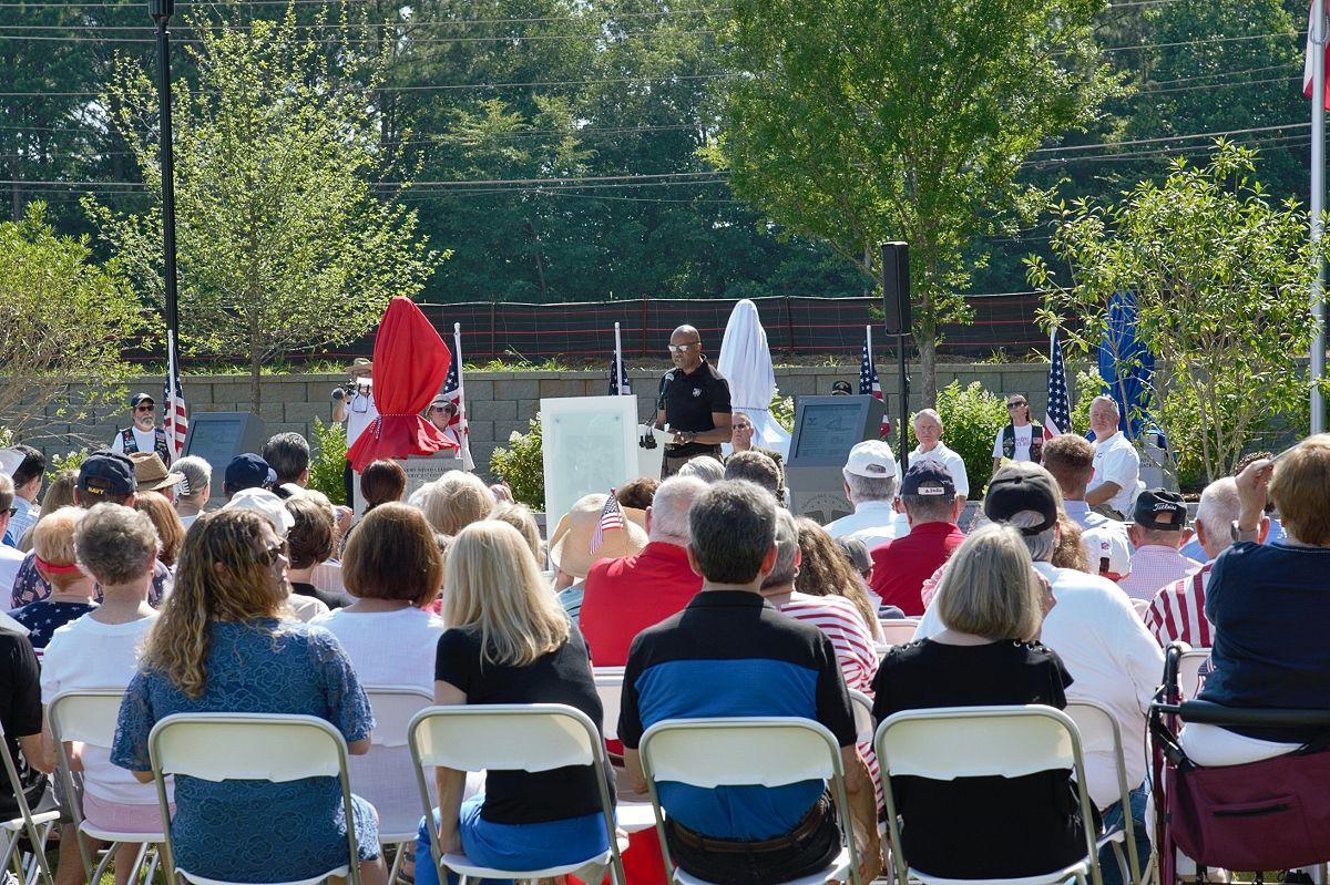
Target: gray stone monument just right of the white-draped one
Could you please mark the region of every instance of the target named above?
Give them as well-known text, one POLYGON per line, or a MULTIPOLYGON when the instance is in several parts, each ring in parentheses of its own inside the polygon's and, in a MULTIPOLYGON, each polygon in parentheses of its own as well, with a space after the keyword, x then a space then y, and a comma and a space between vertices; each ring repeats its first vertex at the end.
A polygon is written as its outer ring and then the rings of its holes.
POLYGON ((803 396, 797 405, 785 462, 790 512, 825 525, 854 510, 841 468, 857 442, 878 439, 883 405, 871 396, 803 396))

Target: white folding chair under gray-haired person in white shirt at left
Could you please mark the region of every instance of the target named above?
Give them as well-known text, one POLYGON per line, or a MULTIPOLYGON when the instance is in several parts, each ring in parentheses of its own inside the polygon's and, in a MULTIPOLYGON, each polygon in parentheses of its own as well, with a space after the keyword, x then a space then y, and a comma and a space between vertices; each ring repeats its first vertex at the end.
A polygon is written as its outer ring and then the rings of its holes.
MULTIPOLYGON (((76 840, 78 842, 78 856, 82 860, 84 874, 88 881, 101 881, 102 873, 116 854, 116 848, 124 844, 138 844, 138 856, 130 870, 130 881, 137 880, 138 870, 148 857, 152 845, 162 841, 161 832, 133 833, 124 831, 109 831, 93 827, 84 819, 82 800, 74 789, 73 773, 69 768, 69 753, 65 751, 65 741, 80 741, 101 749, 110 749, 116 739, 116 722, 120 718, 120 702, 125 692, 121 688, 82 688, 77 691, 63 691, 47 704, 47 720, 51 723, 51 736, 56 743, 56 761, 59 764, 59 777, 65 796, 69 797, 69 811, 73 816, 76 840), (92 852, 88 849, 86 838, 96 838, 106 842, 104 854, 98 862, 93 862, 92 852)), ((148 866, 148 880, 152 881, 157 869, 157 856, 153 854, 148 866)))

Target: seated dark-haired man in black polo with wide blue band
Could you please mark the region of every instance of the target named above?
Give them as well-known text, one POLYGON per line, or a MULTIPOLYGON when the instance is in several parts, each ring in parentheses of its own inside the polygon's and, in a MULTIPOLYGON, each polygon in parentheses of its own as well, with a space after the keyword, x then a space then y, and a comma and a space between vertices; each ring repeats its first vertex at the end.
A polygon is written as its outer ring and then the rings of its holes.
MULTIPOLYGON (((799 716, 841 744, 863 881, 880 870, 876 804, 855 749, 850 696, 831 640, 762 598, 775 567, 775 500, 743 481, 712 486, 689 510, 689 563, 702 589, 688 607, 637 635, 624 674, 618 736, 634 789, 637 747, 664 719, 799 716)), ((818 872, 841 850, 841 832, 818 780, 786 787, 657 785, 674 861, 713 882, 785 882, 818 872)))

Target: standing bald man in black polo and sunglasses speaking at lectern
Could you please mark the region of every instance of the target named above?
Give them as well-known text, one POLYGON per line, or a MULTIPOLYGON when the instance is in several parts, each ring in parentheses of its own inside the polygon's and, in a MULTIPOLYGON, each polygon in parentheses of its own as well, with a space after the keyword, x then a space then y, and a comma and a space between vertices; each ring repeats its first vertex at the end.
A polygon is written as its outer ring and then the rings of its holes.
POLYGON ((702 355, 702 336, 692 326, 680 326, 669 336, 674 368, 661 379, 656 400, 656 427, 669 425, 673 441, 665 446, 661 478, 696 457, 721 457, 721 442, 730 440, 730 383, 702 355))

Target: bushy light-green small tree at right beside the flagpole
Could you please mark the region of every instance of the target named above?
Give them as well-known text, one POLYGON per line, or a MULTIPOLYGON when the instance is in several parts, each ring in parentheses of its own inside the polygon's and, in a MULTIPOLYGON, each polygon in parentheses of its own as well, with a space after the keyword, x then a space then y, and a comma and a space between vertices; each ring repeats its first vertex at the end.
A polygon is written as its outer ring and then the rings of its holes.
POLYGON ((1162 183, 1061 206, 1052 246, 1068 282, 1029 263, 1044 319, 1076 318, 1065 331, 1087 351, 1115 295, 1133 294, 1136 335, 1158 359, 1152 416, 1180 472, 1210 480, 1229 476, 1273 417, 1306 409, 1310 392, 1307 291, 1321 255, 1306 211, 1271 199, 1254 169, 1252 149, 1221 141, 1205 165, 1176 159, 1162 183))

